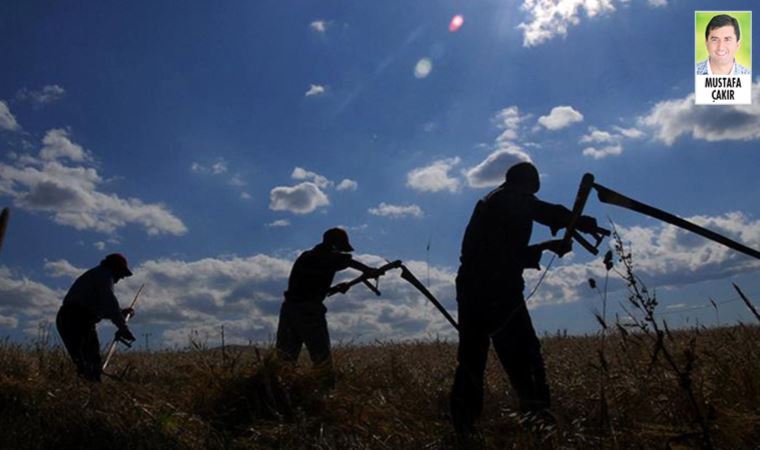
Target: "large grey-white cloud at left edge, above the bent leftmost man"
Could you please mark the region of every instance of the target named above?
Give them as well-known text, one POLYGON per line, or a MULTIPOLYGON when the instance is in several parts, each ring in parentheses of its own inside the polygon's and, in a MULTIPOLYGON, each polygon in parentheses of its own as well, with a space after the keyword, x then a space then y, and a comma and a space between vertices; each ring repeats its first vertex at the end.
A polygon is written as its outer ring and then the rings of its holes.
POLYGON ((0 195, 32 212, 78 230, 112 233, 127 224, 142 226, 148 234, 182 235, 187 228, 164 205, 146 204, 98 190, 103 183, 97 170, 68 166, 59 159, 80 164, 89 157, 62 130, 51 130, 43 140, 40 157, 22 155, 13 164, 0 163, 0 195))

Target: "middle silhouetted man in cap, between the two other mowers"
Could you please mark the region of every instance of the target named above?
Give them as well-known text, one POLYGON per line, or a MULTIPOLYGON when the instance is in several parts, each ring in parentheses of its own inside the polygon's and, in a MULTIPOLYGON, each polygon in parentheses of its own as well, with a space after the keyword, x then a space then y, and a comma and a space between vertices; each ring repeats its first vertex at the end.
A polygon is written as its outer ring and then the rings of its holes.
MULTIPOLYGON (((306 344, 312 363, 332 371, 330 335, 325 320, 327 308, 322 302, 330 293, 335 273, 351 268, 370 278, 380 275, 377 269, 353 259, 349 254, 353 250, 346 231, 331 228, 325 231, 321 243, 296 259, 280 308, 276 344, 280 358, 295 362, 301 346, 306 344)), ((334 290, 346 293, 348 286, 341 283, 334 290)))

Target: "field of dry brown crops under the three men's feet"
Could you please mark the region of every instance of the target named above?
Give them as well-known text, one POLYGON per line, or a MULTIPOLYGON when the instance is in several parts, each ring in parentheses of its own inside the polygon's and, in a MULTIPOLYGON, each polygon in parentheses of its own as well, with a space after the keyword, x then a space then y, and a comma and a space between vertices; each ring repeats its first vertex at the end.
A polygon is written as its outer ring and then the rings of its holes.
MULTIPOLYGON (((760 328, 543 339, 555 425, 522 416, 491 357, 468 448, 757 448, 760 328)), ((270 349, 118 354, 99 385, 60 350, 0 345, 2 448, 457 448, 455 345, 335 351, 337 383, 270 349)), ((494 355, 492 355, 494 356, 494 355)))

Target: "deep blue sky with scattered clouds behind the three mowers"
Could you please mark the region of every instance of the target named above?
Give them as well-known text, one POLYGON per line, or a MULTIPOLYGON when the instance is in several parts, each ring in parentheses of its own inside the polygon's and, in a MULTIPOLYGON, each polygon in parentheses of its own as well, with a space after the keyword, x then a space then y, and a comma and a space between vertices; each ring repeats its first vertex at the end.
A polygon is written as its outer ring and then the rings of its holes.
MULTIPOLYGON (((120 251, 135 272, 122 303, 146 283, 137 334, 181 346, 224 324, 266 340, 293 259, 336 225, 358 258, 408 261, 454 309, 472 208, 520 160, 547 201, 571 204, 592 172, 760 248, 758 82, 751 106, 692 97, 694 10, 749 7, 4 2, 0 334, 33 337, 74 277, 120 251)), ((760 298, 756 262, 595 199, 588 211, 618 224, 669 320, 714 323, 679 312, 708 297, 728 302, 723 323, 750 320, 730 281, 760 298)), ((555 262, 531 299, 536 327, 593 331, 586 280, 602 273, 583 250, 555 262)), ((381 290, 328 300, 336 340, 453 337, 397 276, 381 290)))

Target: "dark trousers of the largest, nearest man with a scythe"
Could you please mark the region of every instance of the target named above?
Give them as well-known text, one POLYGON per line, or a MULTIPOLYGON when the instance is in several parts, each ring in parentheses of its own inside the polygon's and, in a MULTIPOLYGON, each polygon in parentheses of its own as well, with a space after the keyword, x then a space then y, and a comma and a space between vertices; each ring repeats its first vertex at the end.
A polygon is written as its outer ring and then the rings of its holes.
POLYGON ((459 302, 459 365, 451 389, 451 416, 459 431, 472 430, 483 410, 483 376, 488 347, 509 377, 522 411, 549 407, 549 386, 541 356, 541 344, 522 296, 511 307, 495 310, 463 307, 459 302))

